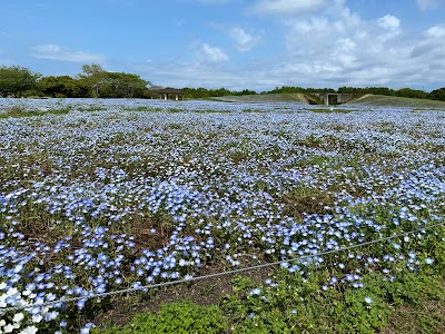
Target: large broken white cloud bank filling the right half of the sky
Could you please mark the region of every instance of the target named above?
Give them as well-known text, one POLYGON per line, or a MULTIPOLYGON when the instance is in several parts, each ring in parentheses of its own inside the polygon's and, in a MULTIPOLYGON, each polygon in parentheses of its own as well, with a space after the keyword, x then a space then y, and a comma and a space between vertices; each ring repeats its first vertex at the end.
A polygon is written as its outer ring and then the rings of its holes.
MULTIPOLYGON (((257 4, 266 2, 271 3, 259 0, 257 4)), ((296 9, 290 2, 276 1, 276 8, 269 7, 284 28, 284 35, 276 37, 286 42, 281 56, 236 65, 226 61, 228 56, 220 49, 199 42, 195 49, 201 61, 182 66, 151 63, 145 72, 164 86, 256 90, 276 86, 422 88, 443 84, 445 24, 412 33, 404 31, 403 22, 394 14, 364 19, 344 0, 333 0, 329 7, 305 14, 285 12, 286 6, 296 9)), ((246 48, 255 38, 239 28, 228 29, 228 33, 246 48)))

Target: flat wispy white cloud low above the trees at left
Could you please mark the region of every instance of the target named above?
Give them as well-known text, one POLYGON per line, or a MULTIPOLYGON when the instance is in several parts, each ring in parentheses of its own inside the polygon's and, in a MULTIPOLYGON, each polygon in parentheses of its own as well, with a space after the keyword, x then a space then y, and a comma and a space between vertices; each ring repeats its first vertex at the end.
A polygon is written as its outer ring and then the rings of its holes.
POLYGON ((72 62, 103 62, 105 57, 85 51, 71 51, 58 45, 40 45, 32 47, 31 56, 40 59, 50 59, 72 62))

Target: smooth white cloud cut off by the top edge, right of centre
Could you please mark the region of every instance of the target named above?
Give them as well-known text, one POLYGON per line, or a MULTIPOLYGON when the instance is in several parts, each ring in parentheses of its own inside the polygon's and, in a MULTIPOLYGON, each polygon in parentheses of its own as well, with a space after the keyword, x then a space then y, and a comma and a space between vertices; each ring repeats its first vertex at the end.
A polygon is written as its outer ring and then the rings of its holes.
POLYGON ((325 0, 260 0, 251 10, 265 14, 293 14, 317 11, 325 0))

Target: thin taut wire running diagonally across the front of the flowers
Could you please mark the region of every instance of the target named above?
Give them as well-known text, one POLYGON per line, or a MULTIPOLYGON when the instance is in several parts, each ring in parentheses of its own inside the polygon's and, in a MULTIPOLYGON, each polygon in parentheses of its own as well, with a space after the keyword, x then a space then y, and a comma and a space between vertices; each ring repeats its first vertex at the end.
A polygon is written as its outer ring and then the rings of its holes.
POLYGON ((165 287, 165 286, 178 285, 178 284, 182 284, 182 283, 190 283, 190 282, 195 282, 195 281, 204 281, 204 279, 209 279, 209 278, 215 278, 215 277, 220 277, 220 276, 226 276, 226 275, 234 275, 234 274, 239 274, 239 273, 245 273, 245 272, 251 272, 251 271, 255 271, 255 269, 260 269, 260 268, 270 267, 270 266, 277 266, 277 265, 281 265, 281 264, 285 264, 285 263, 290 263, 290 262, 296 262, 296 261, 301 261, 301 259, 308 259, 308 258, 313 258, 313 257, 317 257, 317 256, 346 252, 346 250, 349 250, 349 249, 355 249, 355 248, 359 248, 359 247, 368 246, 368 245, 373 245, 373 244, 379 244, 379 243, 387 242, 387 240, 390 240, 390 239, 405 237, 405 236, 408 236, 408 235, 412 235, 412 234, 426 232, 427 229, 432 229, 434 227, 439 227, 439 226, 445 226, 445 222, 441 223, 441 224, 434 224, 434 225, 425 226, 425 227, 422 227, 422 228, 418 228, 418 229, 414 229, 414 230, 409 230, 409 232, 405 232, 405 233, 395 234, 395 235, 392 235, 389 237, 383 237, 383 238, 378 238, 378 239, 374 239, 374 240, 369 240, 369 242, 352 245, 352 246, 339 247, 339 248, 336 248, 336 249, 318 252, 318 253, 310 254, 310 255, 301 255, 301 256, 298 256, 298 257, 286 258, 286 259, 280 259, 280 261, 276 261, 276 262, 268 262, 268 263, 264 263, 264 264, 259 264, 259 265, 255 265, 255 266, 249 266, 249 267, 244 267, 244 268, 225 271, 225 272, 219 272, 219 273, 214 273, 214 274, 208 274, 208 275, 202 275, 202 276, 196 276, 196 277, 190 277, 190 278, 184 278, 184 279, 178 279, 178 281, 169 281, 169 282, 161 282, 161 283, 149 284, 149 285, 141 285, 141 286, 137 286, 137 287, 129 287, 129 288, 123 288, 123 289, 118 289, 118 291, 112 291, 112 292, 90 294, 88 296, 79 296, 79 297, 70 297, 70 298, 62 297, 62 298, 57 299, 57 301, 47 302, 47 303, 40 303, 40 304, 34 304, 34 305, 29 305, 29 306, 6 307, 6 308, 1 308, 0 310, 0 314, 4 314, 4 313, 11 312, 11 311, 30 311, 30 310, 32 310, 33 307, 37 307, 37 306, 38 307, 47 307, 47 306, 53 306, 53 305, 60 304, 60 303, 68 304, 68 303, 78 302, 78 301, 82 301, 82 299, 86 301, 86 299, 90 299, 90 298, 101 298, 101 297, 108 297, 108 296, 120 295, 120 294, 128 294, 128 293, 140 292, 140 291, 146 292, 148 289, 156 288, 156 287, 165 287))

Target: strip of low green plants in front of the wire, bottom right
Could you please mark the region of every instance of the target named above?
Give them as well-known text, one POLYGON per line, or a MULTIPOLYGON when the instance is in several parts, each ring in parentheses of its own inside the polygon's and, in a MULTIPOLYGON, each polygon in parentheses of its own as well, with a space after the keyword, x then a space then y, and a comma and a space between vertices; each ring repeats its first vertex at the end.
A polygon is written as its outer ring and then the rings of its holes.
POLYGON ((317 268, 306 278, 277 269, 269 284, 238 276, 230 281, 231 293, 212 305, 166 303, 93 333, 444 333, 444 273, 397 271, 392 281, 365 274, 359 289, 345 284, 320 289, 333 273, 317 268))

